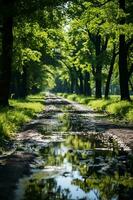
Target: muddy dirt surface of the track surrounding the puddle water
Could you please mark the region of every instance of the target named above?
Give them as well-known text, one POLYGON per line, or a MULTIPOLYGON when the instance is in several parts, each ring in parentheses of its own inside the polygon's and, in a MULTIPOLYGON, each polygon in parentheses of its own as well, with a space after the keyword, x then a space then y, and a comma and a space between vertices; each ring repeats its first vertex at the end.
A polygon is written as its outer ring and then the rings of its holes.
POLYGON ((31 166, 39 162, 36 159, 38 149, 47 146, 51 140, 60 140, 59 137, 56 138, 56 134, 49 137, 44 133, 51 131, 56 133, 59 129, 61 130, 62 122, 57 122, 52 116, 56 116, 56 113, 66 112, 65 106, 69 106, 69 113, 72 114, 72 121, 69 125, 71 132, 103 132, 118 140, 122 148, 130 147, 133 150, 133 126, 112 124, 106 120, 106 116, 103 117, 90 108, 60 97, 49 96, 46 98, 45 104, 45 111, 17 134, 14 141, 16 144, 14 153, 0 157, 0 200, 14 200, 14 191, 19 179, 30 174, 31 166), (60 108, 60 105, 63 108, 60 108), (78 114, 83 117, 77 118, 78 114))

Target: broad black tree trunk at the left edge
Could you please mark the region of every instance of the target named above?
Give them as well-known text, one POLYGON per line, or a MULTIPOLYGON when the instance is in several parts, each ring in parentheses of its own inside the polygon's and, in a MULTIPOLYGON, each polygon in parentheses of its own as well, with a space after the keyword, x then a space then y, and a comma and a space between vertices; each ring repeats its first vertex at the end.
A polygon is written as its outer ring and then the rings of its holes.
POLYGON ((2 70, 0 80, 0 105, 9 105, 10 82, 11 82, 11 65, 12 65, 12 48, 13 48, 13 17, 3 17, 2 29, 2 70))

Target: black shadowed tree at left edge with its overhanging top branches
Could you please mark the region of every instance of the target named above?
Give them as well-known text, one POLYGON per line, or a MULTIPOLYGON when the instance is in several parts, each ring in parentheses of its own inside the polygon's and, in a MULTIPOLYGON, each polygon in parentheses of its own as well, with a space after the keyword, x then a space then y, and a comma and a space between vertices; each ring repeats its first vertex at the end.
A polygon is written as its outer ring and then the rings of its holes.
POLYGON ((0 0, 0 16, 2 17, 2 69, 0 80, 0 105, 9 105, 12 50, 13 50, 13 21, 15 16, 30 16, 46 6, 57 6, 67 0, 0 0))

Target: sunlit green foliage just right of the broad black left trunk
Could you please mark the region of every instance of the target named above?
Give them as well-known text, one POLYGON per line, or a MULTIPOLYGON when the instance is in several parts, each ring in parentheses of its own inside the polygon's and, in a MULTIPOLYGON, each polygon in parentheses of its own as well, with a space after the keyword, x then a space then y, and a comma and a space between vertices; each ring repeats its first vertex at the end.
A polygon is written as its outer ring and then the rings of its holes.
MULTIPOLYGON (((21 23, 17 21, 15 24, 12 72, 12 82, 15 87, 12 91, 13 94, 19 93, 17 91, 24 88, 24 82, 27 94, 54 87, 54 71, 55 67, 60 65, 60 43, 64 36, 62 28, 53 27, 53 24, 50 26, 50 22, 47 21, 51 12, 52 10, 47 11, 47 14, 39 12, 36 22, 34 20, 29 22, 25 19, 21 23), (45 27, 41 23, 40 16, 45 20, 45 27)), ((58 9, 56 12, 58 13, 58 9)), ((16 96, 21 97, 21 94, 16 96)))

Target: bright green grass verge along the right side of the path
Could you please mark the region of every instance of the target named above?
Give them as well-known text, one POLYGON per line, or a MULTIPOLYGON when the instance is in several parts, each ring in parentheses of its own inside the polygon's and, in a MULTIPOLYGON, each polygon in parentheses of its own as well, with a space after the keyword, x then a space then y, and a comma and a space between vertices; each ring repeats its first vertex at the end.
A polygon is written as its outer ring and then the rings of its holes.
POLYGON ((92 107, 95 111, 106 112, 112 120, 122 120, 133 123, 133 102, 120 101, 120 96, 111 96, 110 99, 95 99, 76 94, 59 95, 81 104, 92 107))

